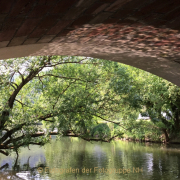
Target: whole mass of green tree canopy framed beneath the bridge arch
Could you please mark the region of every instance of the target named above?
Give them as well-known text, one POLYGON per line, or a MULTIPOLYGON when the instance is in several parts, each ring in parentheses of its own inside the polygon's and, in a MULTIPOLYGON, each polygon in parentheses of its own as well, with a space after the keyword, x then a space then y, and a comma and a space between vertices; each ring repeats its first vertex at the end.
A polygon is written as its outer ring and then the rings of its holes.
POLYGON ((142 70, 74 56, 0 60, 0 68, 0 152, 5 155, 44 145, 53 134, 110 142, 139 125, 142 132, 144 122, 136 121, 140 112, 166 141, 179 133, 180 88, 142 70), (109 124, 98 125, 100 120, 109 124), (98 129, 98 138, 92 137, 98 129))

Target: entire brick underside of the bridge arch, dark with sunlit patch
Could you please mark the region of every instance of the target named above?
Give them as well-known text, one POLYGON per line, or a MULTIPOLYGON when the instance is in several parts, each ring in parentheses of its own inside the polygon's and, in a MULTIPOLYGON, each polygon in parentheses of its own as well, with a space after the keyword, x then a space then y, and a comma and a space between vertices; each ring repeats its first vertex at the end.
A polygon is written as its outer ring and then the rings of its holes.
POLYGON ((82 55, 180 86, 179 0, 1 0, 0 59, 82 55))

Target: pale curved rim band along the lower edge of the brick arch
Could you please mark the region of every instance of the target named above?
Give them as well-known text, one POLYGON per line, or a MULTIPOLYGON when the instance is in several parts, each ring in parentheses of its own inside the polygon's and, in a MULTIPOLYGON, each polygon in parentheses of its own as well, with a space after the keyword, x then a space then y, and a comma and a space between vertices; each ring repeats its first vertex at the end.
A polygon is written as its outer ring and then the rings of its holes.
POLYGON ((0 49, 0 58, 37 55, 86 56, 116 61, 153 73, 180 86, 180 64, 168 58, 146 52, 92 42, 61 42, 21 45, 0 49))

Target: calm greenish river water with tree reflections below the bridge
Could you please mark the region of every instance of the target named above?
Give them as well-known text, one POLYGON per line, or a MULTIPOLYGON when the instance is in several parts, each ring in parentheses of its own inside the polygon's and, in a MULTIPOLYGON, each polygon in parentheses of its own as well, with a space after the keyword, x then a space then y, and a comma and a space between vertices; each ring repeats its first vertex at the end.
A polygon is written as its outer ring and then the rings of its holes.
POLYGON ((52 139, 45 147, 0 155, 0 179, 180 180, 180 145, 52 139))

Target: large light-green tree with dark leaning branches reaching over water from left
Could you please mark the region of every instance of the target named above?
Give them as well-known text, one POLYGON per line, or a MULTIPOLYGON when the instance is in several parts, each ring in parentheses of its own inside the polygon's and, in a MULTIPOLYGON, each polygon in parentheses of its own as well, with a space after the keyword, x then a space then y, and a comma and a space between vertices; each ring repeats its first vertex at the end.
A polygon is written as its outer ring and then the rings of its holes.
POLYGON ((122 105, 111 88, 114 72, 128 78, 115 62, 85 57, 25 57, 1 60, 0 66, 0 149, 6 155, 21 146, 44 145, 50 134, 71 132, 93 140, 88 127, 97 119, 111 122, 122 105), (37 125, 42 121, 46 131, 37 125))

